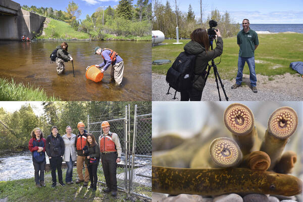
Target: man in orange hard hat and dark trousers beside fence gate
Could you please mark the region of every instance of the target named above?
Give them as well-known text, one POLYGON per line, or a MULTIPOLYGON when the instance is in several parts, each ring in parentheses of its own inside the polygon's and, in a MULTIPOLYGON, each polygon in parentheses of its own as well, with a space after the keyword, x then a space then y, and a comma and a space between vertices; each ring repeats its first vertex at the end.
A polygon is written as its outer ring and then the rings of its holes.
POLYGON ((107 188, 103 191, 117 195, 117 163, 121 161, 121 145, 118 134, 110 131, 108 121, 102 122, 103 134, 99 137, 101 162, 107 188))

